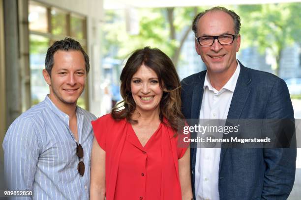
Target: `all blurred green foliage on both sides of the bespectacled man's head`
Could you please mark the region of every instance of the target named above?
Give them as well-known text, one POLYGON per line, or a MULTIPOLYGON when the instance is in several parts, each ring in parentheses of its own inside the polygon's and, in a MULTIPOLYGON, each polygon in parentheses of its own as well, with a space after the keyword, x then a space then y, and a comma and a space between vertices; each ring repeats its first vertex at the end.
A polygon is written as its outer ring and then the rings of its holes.
MULTIPOLYGON (((270 51, 275 58, 272 66, 279 72, 282 50, 293 43, 301 44, 301 3, 261 5, 229 5, 241 16, 242 43, 270 51)), ((157 47, 169 55, 175 66, 181 59, 181 47, 191 31, 191 23, 202 7, 171 7, 137 9, 139 30, 130 34, 125 29, 124 11, 106 11, 104 54, 124 59, 133 50, 157 47)))

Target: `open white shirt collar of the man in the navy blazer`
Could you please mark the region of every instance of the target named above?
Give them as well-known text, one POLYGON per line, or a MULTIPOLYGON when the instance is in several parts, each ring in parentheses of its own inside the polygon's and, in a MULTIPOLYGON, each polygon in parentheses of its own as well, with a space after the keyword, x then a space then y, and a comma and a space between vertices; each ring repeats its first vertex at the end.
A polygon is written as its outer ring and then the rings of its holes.
MULTIPOLYGON (((228 80, 228 82, 220 89, 220 91, 222 91, 223 89, 226 89, 226 90, 229 90, 231 92, 234 92, 236 82, 237 82, 238 77, 240 75, 240 71, 241 71, 241 65, 237 61, 237 68, 236 68, 234 74, 231 76, 231 78, 228 80)), ((208 75, 207 72, 206 72, 206 75, 205 75, 204 90, 205 90, 206 87, 208 87, 209 90, 215 91, 215 89, 212 87, 212 85, 210 83, 210 78, 209 78, 209 75, 208 75)))

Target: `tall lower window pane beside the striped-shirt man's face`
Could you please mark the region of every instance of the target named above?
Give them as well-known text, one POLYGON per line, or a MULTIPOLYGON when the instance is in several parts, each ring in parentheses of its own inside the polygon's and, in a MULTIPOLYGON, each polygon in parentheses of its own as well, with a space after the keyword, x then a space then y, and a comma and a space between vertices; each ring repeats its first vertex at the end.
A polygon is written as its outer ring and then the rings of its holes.
POLYGON ((45 56, 48 46, 48 38, 30 34, 30 89, 32 105, 41 102, 49 94, 49 86, 42 74, 43 69, 45 69, 45 56))

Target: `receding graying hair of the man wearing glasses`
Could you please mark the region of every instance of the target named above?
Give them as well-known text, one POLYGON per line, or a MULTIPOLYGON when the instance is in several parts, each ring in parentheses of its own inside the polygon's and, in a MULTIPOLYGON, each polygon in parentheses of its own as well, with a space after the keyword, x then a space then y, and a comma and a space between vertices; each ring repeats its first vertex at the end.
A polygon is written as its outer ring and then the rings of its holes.
POLYGON ((203 15, 205 15, 206 13, 211 12, 211 11, 223 11, 225 13, 228 13, 233 19, 235 34, 240 33, 240 30, 241 30, 241 18, 240 18, 240 16, 238 16, 238 14, 236 14, 232 10, 228 10, 227 8, 217 6, 217 7, 213 7, 213 8, 210 8, 208 10, 205 10, 203 12, 200 12, 199 14, 197 14, 194 17, 194 20, 193 20, 193 23, 192 23, 192 30, 194 32, 195 37, 197 37, 197 31, 198 31, 197 25, 198 25, 198 22, 199 22, 200 18, 203 15))

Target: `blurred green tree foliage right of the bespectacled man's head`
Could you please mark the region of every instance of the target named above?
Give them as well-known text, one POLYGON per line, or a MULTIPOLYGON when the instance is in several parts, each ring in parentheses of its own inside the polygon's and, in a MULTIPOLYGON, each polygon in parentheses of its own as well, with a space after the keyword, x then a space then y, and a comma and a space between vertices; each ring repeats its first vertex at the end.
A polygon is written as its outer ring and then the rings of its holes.
POLYGON ((258 47, 264 53, 270 50, 279 75, 283 49, 294 42, 300 44, 301 3, 240 5, 241 35, 248 46, 258 47))

